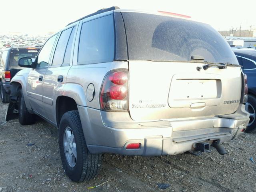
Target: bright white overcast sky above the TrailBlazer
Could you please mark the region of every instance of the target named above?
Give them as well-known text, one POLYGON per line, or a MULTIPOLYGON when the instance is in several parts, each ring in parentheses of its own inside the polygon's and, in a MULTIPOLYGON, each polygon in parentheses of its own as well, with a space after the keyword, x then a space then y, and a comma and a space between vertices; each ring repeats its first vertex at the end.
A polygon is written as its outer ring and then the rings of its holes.
POLYGON ((216 30, 256 28, 256 0, 1 0, 0 33, 46 34, 101 8, 162 10, 189 15, 216 30))

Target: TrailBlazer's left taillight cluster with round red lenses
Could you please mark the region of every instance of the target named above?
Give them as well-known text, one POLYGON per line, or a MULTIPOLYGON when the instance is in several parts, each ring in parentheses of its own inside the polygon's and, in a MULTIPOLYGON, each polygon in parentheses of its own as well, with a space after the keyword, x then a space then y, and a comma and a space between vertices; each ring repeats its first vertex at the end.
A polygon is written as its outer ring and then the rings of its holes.
POLYGON ((128 110, 128 70, 114 70, 104 78, 100 92, 102 110, 128 110))

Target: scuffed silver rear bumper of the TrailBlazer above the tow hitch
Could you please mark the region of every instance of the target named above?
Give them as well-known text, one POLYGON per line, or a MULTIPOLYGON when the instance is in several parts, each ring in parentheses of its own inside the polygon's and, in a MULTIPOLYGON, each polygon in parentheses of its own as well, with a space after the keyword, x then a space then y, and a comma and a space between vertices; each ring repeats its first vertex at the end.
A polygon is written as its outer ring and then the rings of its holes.
POLYGON ((157 156, 192 150, 198 142, 236 138, 249 122, 244 105, 236 113, 190 120, 135 122, 128 112, 103 112, 78 106, 87 147, 91 153, 157 156), (189 129, 189 130, 188 130, 189 129), (140 143, 139 149, 126 149, 140 143))

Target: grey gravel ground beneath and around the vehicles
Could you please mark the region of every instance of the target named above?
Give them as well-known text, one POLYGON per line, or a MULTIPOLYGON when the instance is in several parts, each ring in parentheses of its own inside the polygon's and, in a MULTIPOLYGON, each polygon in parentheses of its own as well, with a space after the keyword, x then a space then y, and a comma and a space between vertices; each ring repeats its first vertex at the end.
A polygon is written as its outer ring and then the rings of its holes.
POLYGON ((256 191, 256 164, 250 161, 252 157, 256 162, 255 134, 226 142, 224 156, 216 150, 200 156, 105 154, 96 178, 75 183, 62 168, 56 128, 40 118, 29 126, 21 126, 18 120, 4 124, 7 106, 0 104, 0 192, 256 191), (170 186, 162 190, 159 183, 170 186))

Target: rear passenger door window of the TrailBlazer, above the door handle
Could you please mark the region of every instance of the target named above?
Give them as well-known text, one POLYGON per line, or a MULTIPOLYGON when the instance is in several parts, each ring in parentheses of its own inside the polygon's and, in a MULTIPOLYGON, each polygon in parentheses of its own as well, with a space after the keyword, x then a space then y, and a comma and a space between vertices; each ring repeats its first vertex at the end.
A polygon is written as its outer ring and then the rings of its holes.
MULTIPOLYGON (((66 48, 67 48, 72 30, 74 31, 74 29, 71 27, 71 28, 68 28, 68 29, 62 31, 62 33, 60 34, 60 38, 58 40, 58 43, 57 43, 57 46, 56 46, 56 49, 54 52, 52 65, 62 65, 63 64, 64 55, 66 52, 66 48)), ((74 36, 74 33, 73 33, 73 36, 74 36)), ((72 38, 72 40, 73 40, 73 38, 72 38)), ((71 51, 71 46, 70 46, 70 51, 71 51)), ((69 58, 70 58, 70 56, 69 56, 69 58)))

